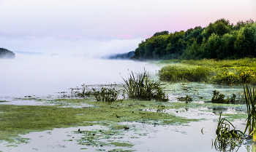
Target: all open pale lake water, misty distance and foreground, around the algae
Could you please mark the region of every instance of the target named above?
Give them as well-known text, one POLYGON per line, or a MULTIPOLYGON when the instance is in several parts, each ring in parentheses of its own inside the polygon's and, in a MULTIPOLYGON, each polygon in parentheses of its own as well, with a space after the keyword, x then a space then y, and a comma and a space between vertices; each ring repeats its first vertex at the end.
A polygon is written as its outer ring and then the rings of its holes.
MULTIPOLYGON (((67 104, 52 102, 60 94, 56 92, 69 92, 70 87, 80 87, 80 84, 120 84, 121 76, 127 77, 127 69, 135 73, 146 71, 156 73, 159 67, 148 63, 138 63, 129 60, 88 60, 83 57, 17 57, 15 60, 0 60, 4 71, 0 76, 0 104, 12 105, 63 105, 74 108, 83 108, 89 105, 67 104), (120 74, 121 73, 121 76, 120 74), (27 96, 27 97, 25 97, 27 96), (31 97, 28 97, 31 96, 31 97), (29 100, 31 98, 31 100, 29 100)), ((165 85, 165 92, 169 95, 170 102, 177 102, 177 97, 192 97, 192 102, 208 103, 212 92, 217 89, 220 93, 231 96, 233 93, 241 98, 243 87, 225 87, 200 83, 177 83, 165 85)), ((134 146, 87 146, 79 144, 85 136, 78 133, 78 129, 110 129, 94 125, 90 127, 70 127, 67 129, 53 129, 44 132, 31 132, 20 135, 30 138, 28 143, 9 144, 0 141, 0 151, 110 151, 113 149, 135 151, 216 151, 212 148, 215 139, 215 130, 219 116, 213 111, 225 113, 244 113, 244 107, 211 107, 211 108, 180 108, 165 111, 176 116, 189 119, 203 119, 188 124, 152 125, 138 122, 124 122, 129 130, 123 130, 120 135, 113 135, 110 140, 129 142, 134 146)), ((149 109, 142 109, 147 110, 149 109)), ((156 111, 150 109, 150 111, 156 111)), ((244 130, 244 119, 233 122, 236 129, 244 130)), ((101 142, 108 142, 100 139, 101 142)), ((83 143, 83 142, 82 142, 83 143)), ((117 150, 118 151, 118 150, 117 150)), ((246 151, 244 145, 238 149, 246 151)))

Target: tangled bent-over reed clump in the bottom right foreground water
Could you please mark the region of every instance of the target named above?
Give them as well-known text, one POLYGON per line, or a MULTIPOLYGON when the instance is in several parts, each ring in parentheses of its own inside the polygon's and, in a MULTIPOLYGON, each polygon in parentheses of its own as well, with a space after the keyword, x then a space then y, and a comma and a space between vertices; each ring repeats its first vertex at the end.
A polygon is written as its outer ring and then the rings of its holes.
POLYGON ((237 146, 240 146, 244 140, 244 133, 236 130, 236 127, 231 124, 226 118, 221 118, 222 112, 219 115, 219 123, 216 129, 217 137, 214 141, 214 146, 217 151, 233 151, 237 146), (233 129, 230 129, 233 127, 233 129))

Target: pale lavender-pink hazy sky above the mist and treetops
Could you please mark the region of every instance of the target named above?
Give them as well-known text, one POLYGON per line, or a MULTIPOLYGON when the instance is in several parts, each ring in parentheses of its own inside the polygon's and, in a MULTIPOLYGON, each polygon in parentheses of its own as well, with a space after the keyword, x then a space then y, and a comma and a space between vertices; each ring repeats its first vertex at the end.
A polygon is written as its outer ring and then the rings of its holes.
POLYGON ((100 57, 134 51, 158 31, 225 18, 256 20, 255 0, 0 0, 0 47, 100 57))

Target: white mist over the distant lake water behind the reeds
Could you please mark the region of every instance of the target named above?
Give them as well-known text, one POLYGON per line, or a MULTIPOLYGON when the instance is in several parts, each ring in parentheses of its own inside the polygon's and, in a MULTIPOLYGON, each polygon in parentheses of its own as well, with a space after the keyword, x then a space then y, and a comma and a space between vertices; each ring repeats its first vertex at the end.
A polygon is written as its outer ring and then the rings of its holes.
POLYGON ((132 60, 99 60, 75 55, 17 54, 14 60, 0 60, 0 66, 0 97, 55 95, 80 84, 120 84, 121 76, 127 78, 129 71, 159 70, 157 66, 132 60))

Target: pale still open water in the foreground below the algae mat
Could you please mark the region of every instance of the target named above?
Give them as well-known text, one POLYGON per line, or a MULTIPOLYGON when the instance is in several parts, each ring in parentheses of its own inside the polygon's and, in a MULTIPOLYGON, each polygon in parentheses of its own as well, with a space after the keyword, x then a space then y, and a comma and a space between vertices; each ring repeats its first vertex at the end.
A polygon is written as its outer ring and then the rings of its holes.
MULTIPOLYGON (((137 150, 137 151, 216 151, 212 147, 212 140, 215 139, 215 129, 218 119, 216 116, 210 120, 191 122, 188 125, 178 126, 154 126, 140 123, 123 123, 135 127, 129 131, 124 131, 122 135, 113 136, 108 140, 118 142, 129 142, 134 144, 132 148, 115 146, 87 146, 78 144, 78 140, 83 137, 80 130, 107 129, 99 125, 91 127, 70 127, 67 129, 53 129, 45 132, 31 132, 28 135, 20 135, 30 138, 29 143, 20 143, 17 147, 5 147, 6 143, 1 143, 1 151, 110 151, 113 149, 137 150)), ((243 129, 243 120, 234 124, 237 129, 243 129)), ((107 140, 101 140, 107 142, 107 140)), ((246 151, 242 145, 238 151, 246 151)))

